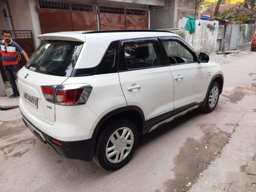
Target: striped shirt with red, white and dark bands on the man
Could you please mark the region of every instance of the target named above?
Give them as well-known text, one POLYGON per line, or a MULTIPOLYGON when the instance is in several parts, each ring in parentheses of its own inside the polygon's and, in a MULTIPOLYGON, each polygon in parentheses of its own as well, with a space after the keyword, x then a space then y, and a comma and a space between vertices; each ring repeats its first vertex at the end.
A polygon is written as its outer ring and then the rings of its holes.
POLYGON ((8 46, 5 46, 5 41, 0 41, 3 66, 17 65, 17 51, 22 53, 24 50, 13 40, 8 46))

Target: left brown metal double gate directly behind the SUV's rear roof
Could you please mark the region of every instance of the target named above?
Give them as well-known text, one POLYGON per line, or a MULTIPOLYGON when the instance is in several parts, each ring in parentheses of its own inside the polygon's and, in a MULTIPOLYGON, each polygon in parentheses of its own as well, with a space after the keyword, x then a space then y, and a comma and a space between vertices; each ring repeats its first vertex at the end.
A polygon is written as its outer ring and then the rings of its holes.
POLYGON ((97 30, 95 5, 37 1, 41 33, 97 30))

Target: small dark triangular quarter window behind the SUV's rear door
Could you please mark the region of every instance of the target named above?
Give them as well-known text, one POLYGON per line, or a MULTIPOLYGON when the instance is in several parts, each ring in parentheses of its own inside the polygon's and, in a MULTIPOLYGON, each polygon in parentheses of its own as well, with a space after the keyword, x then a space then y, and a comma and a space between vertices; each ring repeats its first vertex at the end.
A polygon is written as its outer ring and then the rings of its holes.
POLYGON ((119 54, 119 41, 111 42, 109 48, 106 50, 96 74, 117 73, 119 54))

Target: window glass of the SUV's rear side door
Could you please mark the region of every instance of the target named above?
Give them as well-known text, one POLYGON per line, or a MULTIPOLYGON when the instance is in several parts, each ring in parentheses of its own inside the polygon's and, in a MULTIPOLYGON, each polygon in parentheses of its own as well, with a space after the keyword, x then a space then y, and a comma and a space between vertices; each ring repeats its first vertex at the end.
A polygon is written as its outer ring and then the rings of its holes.
POLYGON ((161 66, 158 42, 134 43, 124 46, 124 61, 128 69, 161 66))

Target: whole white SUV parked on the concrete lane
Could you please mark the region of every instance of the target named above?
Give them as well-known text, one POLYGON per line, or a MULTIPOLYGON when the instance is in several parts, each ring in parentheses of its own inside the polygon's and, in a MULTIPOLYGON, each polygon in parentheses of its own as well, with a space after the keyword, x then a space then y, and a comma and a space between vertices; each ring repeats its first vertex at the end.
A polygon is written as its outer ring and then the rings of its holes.
POLYGON ((124 166, 140 135, 200 108, 215 109, 220 65, 166 31, 40 35, 18 72, 25 124, 61 156, 124 166))

